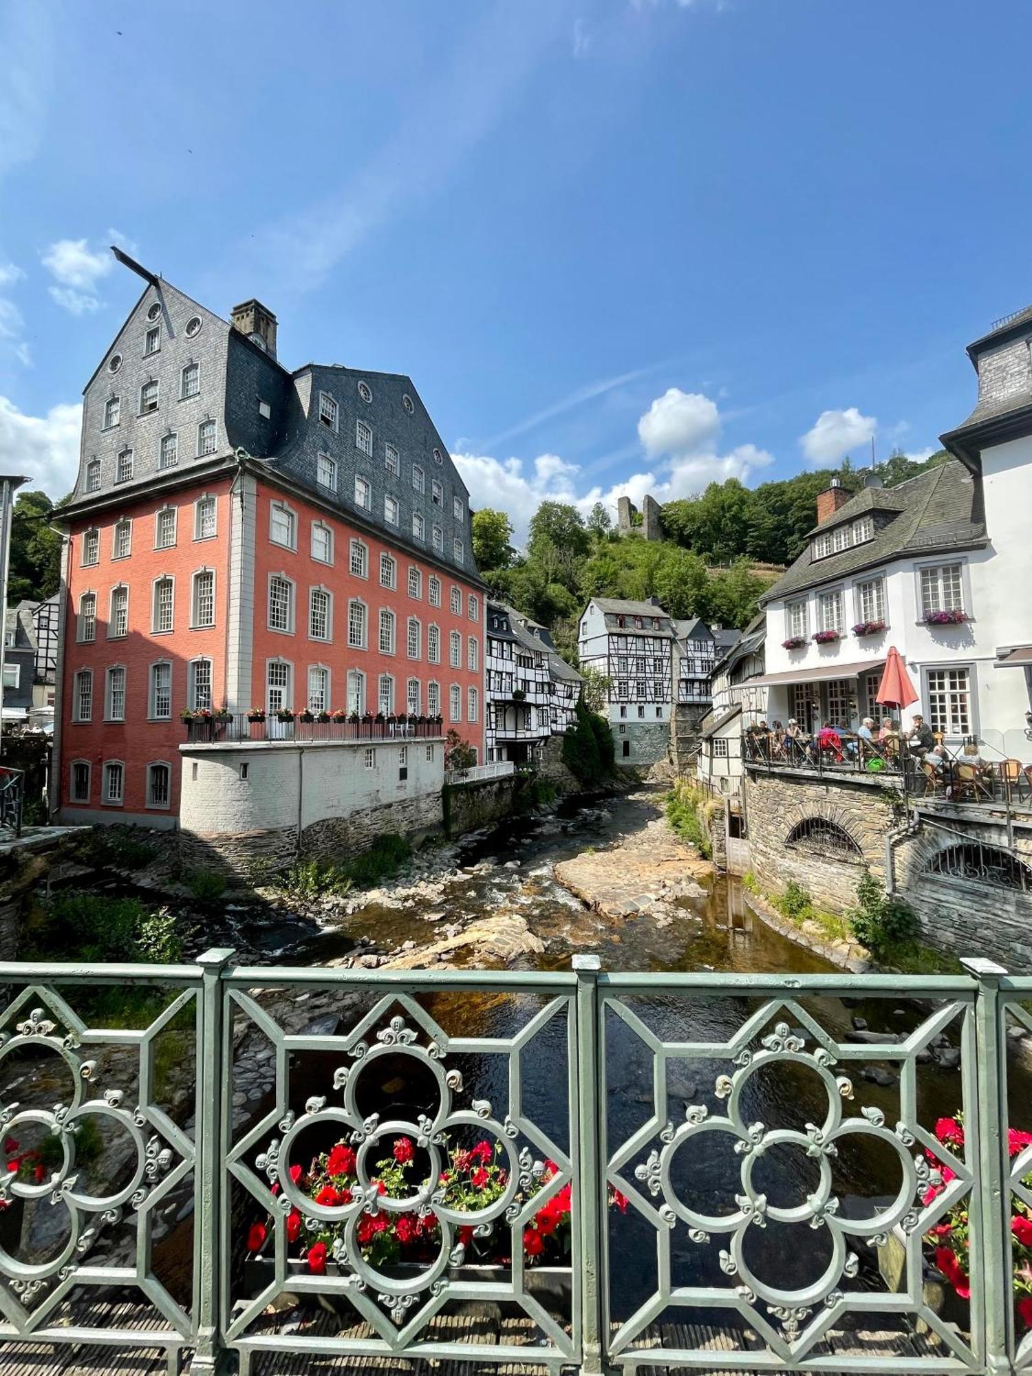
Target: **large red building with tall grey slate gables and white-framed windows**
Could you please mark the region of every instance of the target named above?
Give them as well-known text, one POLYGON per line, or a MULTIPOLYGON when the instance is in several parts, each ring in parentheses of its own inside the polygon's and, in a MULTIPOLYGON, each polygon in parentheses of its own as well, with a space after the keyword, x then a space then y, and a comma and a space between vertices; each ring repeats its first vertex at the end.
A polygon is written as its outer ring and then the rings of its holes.
MULTIPOLYGON (((455 727, 483 758, 468 493, 411 381, 288 372, 259 303, 230 323, 122 260, 146 288, 85 388, 62 510, 55 810, 173 824, 184 711, 227 709, 234 740, 255 707, 442 717, 421 740, 455 727)), ((373 806, 396 802, 381 754, 373 806)), ((257 793, 242 824, 260 830, 257 793)))

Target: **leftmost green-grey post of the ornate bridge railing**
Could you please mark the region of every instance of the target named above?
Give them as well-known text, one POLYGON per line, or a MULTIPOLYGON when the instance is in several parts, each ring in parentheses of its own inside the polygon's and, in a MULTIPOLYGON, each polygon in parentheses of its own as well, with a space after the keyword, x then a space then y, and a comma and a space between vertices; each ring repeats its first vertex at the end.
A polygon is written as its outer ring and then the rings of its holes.
POLYGON ((200 1102, 197 1112, 198 1208, 194 1230, 194 1296, 197 1350, 190 1376, 217 1373, 222 1263, 222 1127, 227 1086, 223 1083, 223 987, 233 960, 230 949, 205 951, 201 966, 201 1044, 197 1049, 200 1102))

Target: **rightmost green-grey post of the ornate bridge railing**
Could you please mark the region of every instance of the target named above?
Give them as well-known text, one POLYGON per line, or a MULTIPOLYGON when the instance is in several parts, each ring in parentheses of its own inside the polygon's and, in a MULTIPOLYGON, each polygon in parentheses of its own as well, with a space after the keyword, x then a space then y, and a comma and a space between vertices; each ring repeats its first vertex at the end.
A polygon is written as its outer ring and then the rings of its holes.
MULTIPOLYGON (((981 1200, 981 1278, 985 1310, 985 1369, 998 1376, 1013 1370, 1013 1278, 1010 1266, 1010 1189, 1007 1170, 1007 1104, 1003 1090, 1006 1046, 1000 1013, 1000 978, 1007 973, 995 960, 967 956, 960 962, 978 981, 974 1003, 974 1038, 978 1062, 978 1163, 981 1200)), ((971 1266, 976 1259, 970 1258, 971 1266)))

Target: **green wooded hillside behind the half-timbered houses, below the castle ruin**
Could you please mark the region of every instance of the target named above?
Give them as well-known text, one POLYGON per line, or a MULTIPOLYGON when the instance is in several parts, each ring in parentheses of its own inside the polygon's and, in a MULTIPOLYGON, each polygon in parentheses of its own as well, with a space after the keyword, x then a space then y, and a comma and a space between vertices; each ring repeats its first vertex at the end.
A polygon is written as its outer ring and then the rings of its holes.
MULTIPOLYGON (((945 450, 925 461, 893 454, 877 472, 894 487, 948 458, 945 450)), ((662 541, 621 538, 601 502, 585 520, 575 506, 546 501, 517 552, 508 516, 484 508, 473 513, 473 555, 495 594, 548 626, 572 662, 589 597, 656 596, 673 616, 744 626, 764 588, 801 552, 817 520, 817 493, 832 477, 848 491, 861 484, 849 460, 753 488, 735 477, 710 483, 699 497, 663 506, 662 541)))

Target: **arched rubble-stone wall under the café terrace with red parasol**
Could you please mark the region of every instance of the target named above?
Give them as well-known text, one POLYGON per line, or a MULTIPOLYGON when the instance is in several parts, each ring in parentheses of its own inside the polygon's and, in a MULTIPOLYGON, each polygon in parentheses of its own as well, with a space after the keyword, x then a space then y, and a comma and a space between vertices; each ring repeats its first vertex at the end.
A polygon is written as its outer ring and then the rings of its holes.
MULTIPOLYGON (((885 843, 899 819, 877 786, 820 783, 798 775, 766 775, 747 771, 746 810, 753 871, 761 886, 783 890, 788 881, 801 883, 819 908, 843 914, 856 903, 856 883, 867 866, 885 882, 885 843), (786 846, 786 837, 805 817, 826 817, 842 827, 860 846, 856 860, 821 859, 786 846)), ((934 856, 965 841, 985 846, 1007 845, 1000 817, 938 816, 944 831, 922 819, 914 835, 893 841, 896 890, 914 908, 925 943, 954 955, 985 955, 1014 973, 1032 969, 1032 894, 929 874, 934 856)), ((1014 831, 1014 849, 1032 868, 1032 828, 1014 831)))

